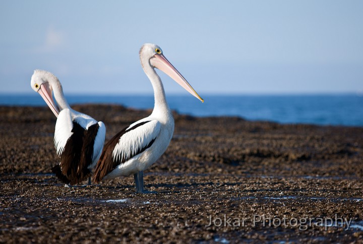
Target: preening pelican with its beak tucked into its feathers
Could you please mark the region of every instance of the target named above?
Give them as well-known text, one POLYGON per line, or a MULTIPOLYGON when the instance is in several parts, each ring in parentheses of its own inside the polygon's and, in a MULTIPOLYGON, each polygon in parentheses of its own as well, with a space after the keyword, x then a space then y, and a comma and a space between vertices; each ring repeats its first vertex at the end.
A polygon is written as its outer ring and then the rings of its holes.
POLYGON ((54 147, 61 158, 52 172, 63 183, 79 184, 88 178, 101 155, 106 134, 103 122, 73 110, 64 94, 58 78, 44 70, 35 70, 31 77, 32 89, 39 93, 57 117, 54 147), (52 92, 56 104, 52 98, 52 92))

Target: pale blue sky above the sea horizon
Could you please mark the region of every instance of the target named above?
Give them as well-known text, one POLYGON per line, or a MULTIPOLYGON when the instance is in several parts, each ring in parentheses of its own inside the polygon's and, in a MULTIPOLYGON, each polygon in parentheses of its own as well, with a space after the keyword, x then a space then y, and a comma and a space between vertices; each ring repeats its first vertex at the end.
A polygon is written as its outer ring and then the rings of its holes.
MULTIPOLYGON (((0 93, 34 69, 66 94, 151 94, 158 44, 203 94, 363 93, 363 1, 0 2, 0 93)), ((188 94, 158 72, 166 93, 188 94)))

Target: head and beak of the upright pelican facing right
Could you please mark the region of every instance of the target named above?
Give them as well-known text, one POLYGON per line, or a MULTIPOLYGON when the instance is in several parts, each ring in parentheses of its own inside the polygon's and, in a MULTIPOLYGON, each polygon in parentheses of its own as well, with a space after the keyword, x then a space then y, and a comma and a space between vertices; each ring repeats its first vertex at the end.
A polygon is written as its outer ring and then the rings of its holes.
POLYGON ((197 94, 197 92, 192 88, 192 86, 187 82, 187 80, 176 70, 176 68, 166 59, 163 55, 163 51, 156 44, 146 43, 140 49, 140 61, 143 68, 146 65, 150 65, 153 68, 158 68, 167 75, 170 76, 176 83, 187 90, 194 97, 198 98, 200 101, 204 100, 197 94))

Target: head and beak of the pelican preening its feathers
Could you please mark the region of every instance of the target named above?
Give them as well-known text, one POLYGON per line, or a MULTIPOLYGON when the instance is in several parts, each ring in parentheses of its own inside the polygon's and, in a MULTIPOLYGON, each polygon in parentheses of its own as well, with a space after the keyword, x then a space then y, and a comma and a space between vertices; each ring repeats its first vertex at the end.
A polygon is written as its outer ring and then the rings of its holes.
POLYGON ((51 111, 58 117, 59 109, 52 97, 53 87, 56 86, 62 90, 62 85, 59 83, 58 78, 48 71, 36 69, 31 77, 30 86, 35 92, 40 94, 51 111))

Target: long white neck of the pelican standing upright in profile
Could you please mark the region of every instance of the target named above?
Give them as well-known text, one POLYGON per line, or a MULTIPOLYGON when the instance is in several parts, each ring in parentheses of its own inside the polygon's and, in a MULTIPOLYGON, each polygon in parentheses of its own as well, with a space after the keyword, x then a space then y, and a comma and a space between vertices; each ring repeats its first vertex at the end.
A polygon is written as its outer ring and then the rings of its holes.
POLYGON ((154 89, 154 110, 153 115, 157 114, 170 114, 170 108, 166 102, 164 86, 162 85, 160 76, 156 73, 155 69, 150 65, 149 60, 146 62, 144 60, 141 61, 144 72, 150 79, 151 85, 154 89))

